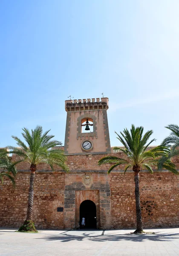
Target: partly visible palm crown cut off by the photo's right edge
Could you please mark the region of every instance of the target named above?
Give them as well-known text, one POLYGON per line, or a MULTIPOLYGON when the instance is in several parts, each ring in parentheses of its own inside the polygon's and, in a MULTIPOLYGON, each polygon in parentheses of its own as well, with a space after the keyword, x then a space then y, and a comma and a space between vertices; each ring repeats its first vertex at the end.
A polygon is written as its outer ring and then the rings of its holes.
POLYGON ((159 162, 159 169, 162 169, 163 164, 167 159, 179 155, 179 150, 177 149, 179 147, 179 126, 170 124, 168 126, 165 126, 165 128, 169 129, 171 133, 162 141, 161 145, 170 146, 170 153, 167 156, 163 156, 161 158, 159 162))

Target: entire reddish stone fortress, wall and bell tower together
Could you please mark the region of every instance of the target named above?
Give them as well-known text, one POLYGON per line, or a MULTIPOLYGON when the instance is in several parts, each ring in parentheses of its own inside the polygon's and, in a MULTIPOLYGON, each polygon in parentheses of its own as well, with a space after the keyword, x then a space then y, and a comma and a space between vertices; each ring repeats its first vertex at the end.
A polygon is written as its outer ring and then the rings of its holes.
MULTIPOLYGON (((134 173, 124 175, 124 166, 107 175, 110 164, 98 166, 98 160, 114 153, 110 147, 107 122, 108 98, 65 101, 66 135, 64 152, 69 173, 60 168, 52 172, 38 165, 34 183, 33 219, 37 228, 78 229, 80 205, 91 200, 96 206, 97 228, 136 227, 134 173), (82 132, 81 122, 93 121, 91 133, 82 132), (93 147, 84 151, 82 143, 90 140, 93 147), (113 153, 111 153, 113 152, 113 153)), ((12 161, 19 160, 12 155, 12 161)), ((179 169, 179 157, 173 162, 179 169)), ((29 192, 29 164, 19 163, 16 187, 9 180, 0 185, 0 226, 20 227, 26 219, 29 192)), ((144 227, 179 226, 179 176, 168 171, 140 172, 141 210, 144 227)))

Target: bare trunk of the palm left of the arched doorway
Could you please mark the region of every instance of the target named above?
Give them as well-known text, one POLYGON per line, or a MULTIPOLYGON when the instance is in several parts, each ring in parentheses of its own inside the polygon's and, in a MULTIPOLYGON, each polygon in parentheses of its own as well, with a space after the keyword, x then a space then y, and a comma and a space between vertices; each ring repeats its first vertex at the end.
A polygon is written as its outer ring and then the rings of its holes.
POLYGON ((26 218, 26 220, 31 220, 31 221, 32 221, 32 215, 33 215, 33 203, 34 203, 34 178, 35 178, 35 172, 31 172, 28 207, 27 207, 27 218, 26 218))

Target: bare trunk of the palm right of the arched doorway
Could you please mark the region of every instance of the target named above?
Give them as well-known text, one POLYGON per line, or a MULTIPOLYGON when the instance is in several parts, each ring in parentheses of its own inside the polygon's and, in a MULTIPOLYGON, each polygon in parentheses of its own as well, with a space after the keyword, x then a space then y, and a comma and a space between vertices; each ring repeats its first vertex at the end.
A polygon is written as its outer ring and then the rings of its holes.
POLYGON ((136 197, 136 217, 137 217, 137 229, 134 233, 142 233, 143 224, 142 224, 140 192, 139 192, 139 172, 134 172, 134 181, 135 181, 135 197, 136 197))

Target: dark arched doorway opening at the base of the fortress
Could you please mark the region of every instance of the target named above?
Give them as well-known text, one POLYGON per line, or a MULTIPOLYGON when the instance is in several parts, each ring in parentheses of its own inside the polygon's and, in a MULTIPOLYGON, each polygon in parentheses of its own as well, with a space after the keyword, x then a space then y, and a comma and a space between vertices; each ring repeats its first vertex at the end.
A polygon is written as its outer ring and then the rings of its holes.
POLYGON ((82 218, 85 218, 85 229, 96 229, 96 206, 91 200, 85 200, 80 205, 80 228, 82 218))

